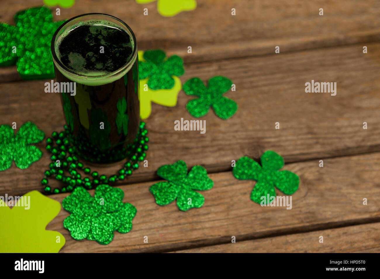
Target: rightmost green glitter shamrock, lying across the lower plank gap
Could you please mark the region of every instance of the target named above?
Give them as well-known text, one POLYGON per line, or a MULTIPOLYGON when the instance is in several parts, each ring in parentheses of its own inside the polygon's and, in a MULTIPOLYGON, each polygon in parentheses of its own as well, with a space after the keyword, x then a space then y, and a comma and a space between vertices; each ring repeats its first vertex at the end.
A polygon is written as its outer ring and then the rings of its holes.
POLYGON ((299 185, 299 177, 288 170, 279 171, 284 166, 283 158, 274 151, 268 150, 261 156, 261 166, 249 157, 242 157, 236 162, 232 172, 237 179, 256 180, 251 193, 251 200, 256 203, 269 203, 267 196, 276 195, 275 187, 284 194, 293 194, 299 185))

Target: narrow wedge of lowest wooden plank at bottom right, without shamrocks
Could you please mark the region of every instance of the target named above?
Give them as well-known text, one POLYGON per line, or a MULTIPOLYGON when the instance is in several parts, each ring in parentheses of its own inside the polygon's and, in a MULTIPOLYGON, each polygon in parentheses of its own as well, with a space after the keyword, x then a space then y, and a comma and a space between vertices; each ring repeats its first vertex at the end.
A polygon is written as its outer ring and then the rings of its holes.
POLYGON ((380 223, 296 233, 236 243, 205 246, 173 253, 378 253, 380 223), (319 237, 323 236, 323 243, 319 237))

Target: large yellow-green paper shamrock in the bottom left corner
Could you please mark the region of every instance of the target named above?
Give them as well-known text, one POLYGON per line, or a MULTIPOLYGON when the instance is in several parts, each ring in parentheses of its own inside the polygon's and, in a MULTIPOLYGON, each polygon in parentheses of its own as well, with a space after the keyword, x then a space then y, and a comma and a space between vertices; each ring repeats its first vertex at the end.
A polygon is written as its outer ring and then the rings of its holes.
POLYGON ((6 227, 0 230, 0 252, 57 253, 65 245, 65 238, 45 228, 60 210, 59 202, 38 191, 23 195, 12 209, 1 199, 0 222, 6 227))

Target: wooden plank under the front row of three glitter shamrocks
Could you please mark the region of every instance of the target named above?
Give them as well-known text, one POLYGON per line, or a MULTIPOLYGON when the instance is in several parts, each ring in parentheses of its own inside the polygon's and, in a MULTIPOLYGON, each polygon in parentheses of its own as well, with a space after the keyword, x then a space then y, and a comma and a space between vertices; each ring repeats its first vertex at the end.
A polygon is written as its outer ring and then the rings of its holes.
MULTIPOLYGON (((223 172, 209 175, 214 187, 201 191, 204 206, 187 212, 178 210, 175 202, 158 206, 148 190, 154 181, 120 186, 125 193, 123 201, 135 205, 137 214, 131 232, 115 233, 106 246, 73 240, 63 229, 63 219, 68 216, 63 209, 46 229, 65 236, 62 252, 169 252, 230 243, 231 236, 244 241, 380 222, 379 164, 380 153, 372 153, 326 159, 323 168, 318 167, 318 161, 286 165, 284 169, 297 173, 301 181, 292 195, 291 210, 252 202, 250 192, 255 182, 237 180, 232 172, 223 172), (363 205, 364 197, 368 205, 363 205), (148 243, 143 242, 144 236, 148 236, 148 243)), ((283 194, 277 190, 277 195, 283 194)), ((65 196, 50 197, 62 202, 65 196)))

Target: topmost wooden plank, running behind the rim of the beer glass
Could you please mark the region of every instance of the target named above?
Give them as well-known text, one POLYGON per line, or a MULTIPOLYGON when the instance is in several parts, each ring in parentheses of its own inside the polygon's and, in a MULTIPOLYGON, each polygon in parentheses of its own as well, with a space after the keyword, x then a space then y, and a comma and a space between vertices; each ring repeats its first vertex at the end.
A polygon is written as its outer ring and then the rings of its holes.
MULTIPOLYGON (((273 54, 304 49, 368 43, 380 40, 380 2, 376 0, 197 0, 194 11, 174 17, 157 13, 157 2, 134 0, 77 1, 61 9, 55 20, 84 13, 106 13, 124 20, 136 34, 138 47, 165 49, 185 62, 273 54), (149 15, 143 15, 148 8, 149 15), (236 16, 231 15, 236 9, 236 16), (324 15, 319 15, 319 9, 324 15), (192 46, 192 54, 187 47, 192 46)), ((28 0, 40 6, 41 0, 28 0)), ((3 0, 0 21, 14 24, 13 16, 25 9, 24 0, 3 0)), ((55 11, 56 7, 52 7, 55 11)), ((0 68, 0 82, 18 80, 16 67, 0 68)))

